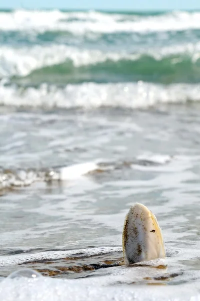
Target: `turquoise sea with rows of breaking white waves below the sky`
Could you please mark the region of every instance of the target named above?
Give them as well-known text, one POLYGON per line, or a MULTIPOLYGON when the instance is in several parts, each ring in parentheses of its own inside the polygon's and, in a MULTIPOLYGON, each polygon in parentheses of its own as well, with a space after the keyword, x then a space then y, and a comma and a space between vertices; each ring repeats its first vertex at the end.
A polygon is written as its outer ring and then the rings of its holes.
MULTIPOLYGON (((116 97, 112 93, 116 85, 116 93, 130 107, 131 89, 139 94, 134 104, 141 107, 148 106, 149 94, 152 104, 196 100, 199 16, 199 12, 0 11, 0 103, 42 106, 44 90, 51 93, 55 106, 76 107, 80 104, 74 95, 67 93, 67 100, 57 103, 55 93, 65 98, 68 90, 75 89, 82 95, 87 83, 93 84, 89 97, 95 89, 107 98, 116 97), (142 101, 138 83, 148 95, 142 101), (166 100, 157 99, 157 89, 166 100), (8 101, 6 95, 13 90, 14 99, 8 101), (40 100, 30 103, 32 94, 40 100)), ((80 106, 87 105, 86 99, 80 106)), ((95 99, 90 105, 96 106, 95 99)), ((100 105, 106 105, 102 98, 100 105)), ((114 99, 111 105, 116 105, 114 99)))

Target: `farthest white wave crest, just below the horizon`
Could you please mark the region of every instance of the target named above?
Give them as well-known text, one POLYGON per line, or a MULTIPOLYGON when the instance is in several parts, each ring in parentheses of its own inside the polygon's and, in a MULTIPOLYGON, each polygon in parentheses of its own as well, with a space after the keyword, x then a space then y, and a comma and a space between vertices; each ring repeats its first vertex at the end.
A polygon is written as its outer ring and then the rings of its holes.
POLYGON ((0 30, 67 31, 73 34, 161 32, 199 29, 199 12, 172 12, 157 16, 17 10, 0 12, 0 30))

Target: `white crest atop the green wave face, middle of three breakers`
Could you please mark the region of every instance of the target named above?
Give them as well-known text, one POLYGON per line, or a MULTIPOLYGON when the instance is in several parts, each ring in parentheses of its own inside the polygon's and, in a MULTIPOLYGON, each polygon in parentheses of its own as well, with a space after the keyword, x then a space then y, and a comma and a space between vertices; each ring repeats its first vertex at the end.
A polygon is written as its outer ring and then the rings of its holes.
MULTIPOLYGON (((200 55, 200 42, 191 44, 177 44, 173 46, 166 46, 162 48, 135 48, 133 52, 118 51, 118 52, 103 52, 100 50, 78 49, 77 47, 70 47, 64 44, 51 44, 48 46, 34 45, 32 47, 0 47, 0 77, 5 76, 27 76, 32 71, 62 64, 67 60, 70 61, 74 67, 94 65, 97 63, 110 60, 117 62, 120 60, 139 59, 142 55, 148 55, 155 60, 161 60, 170 55, 185 54, 191 58, 195 63, 200 55)), ((172 58, 171 64, 181 62, 183 58, 172 58)))

